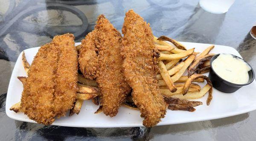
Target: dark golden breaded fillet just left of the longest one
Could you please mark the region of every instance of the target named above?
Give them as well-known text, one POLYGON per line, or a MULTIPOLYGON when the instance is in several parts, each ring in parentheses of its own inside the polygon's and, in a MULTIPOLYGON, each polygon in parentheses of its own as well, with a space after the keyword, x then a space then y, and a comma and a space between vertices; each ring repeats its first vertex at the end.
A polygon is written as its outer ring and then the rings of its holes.
POLYGON ((99 60, 96 81, 102 93, 103 113, 112 117, 131 90, 122 73, 122 36, 104 15, 98 17, 95 30, 99 60))

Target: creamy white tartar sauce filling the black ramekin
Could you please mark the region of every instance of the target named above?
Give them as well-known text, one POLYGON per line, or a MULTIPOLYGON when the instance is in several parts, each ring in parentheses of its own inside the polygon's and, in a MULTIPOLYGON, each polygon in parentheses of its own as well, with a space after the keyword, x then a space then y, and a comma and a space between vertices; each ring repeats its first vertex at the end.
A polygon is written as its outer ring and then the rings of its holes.
POLYGON ((212 69, 222 79, 235 84, 245 84, 249 81, 250 66, 240 58, 231 54, 220 54, 212 61, 212 69))

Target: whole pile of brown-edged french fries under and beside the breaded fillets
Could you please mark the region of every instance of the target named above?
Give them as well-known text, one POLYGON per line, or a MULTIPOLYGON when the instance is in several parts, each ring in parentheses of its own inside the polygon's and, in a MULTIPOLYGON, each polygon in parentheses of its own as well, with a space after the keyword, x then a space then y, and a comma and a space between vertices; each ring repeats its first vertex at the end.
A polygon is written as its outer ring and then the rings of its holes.
MULTIPOLYGON (((210 46, 201 54, 194 52, 194 48, 186 50, 186 47, 180 42, 169 37, 161 36, 154 37, 155 47, 160 51, 158 58, 159 74, 157 74, 160 93, 164 96, 165 102, 170 110, 187 110, 195 111, 195 106, 201 105, 202 102, 188 101, 188 99, 200 99, 208 91, 207 105, 212 99, 212 83, 207 76, 202 75, 210 69, 209 60, 214 54, 209 54, 209 51, 214 48, 210 46), (165 41, 169 41, 165 42, 165 41), (197 54, 199 54, 197 56, 197 54), (188 70, 188 75, 183 75, 188 70), (197 72, 198 74, 194 74, 197 72), (207 85, 200 87, 195 82, 207 81, 207 85), (194 82, 194 83, 192 83, 194 82)), ((79 52, 81 45, 76 46, 79 52)), ((23 67, 26 73, 29 71, 30 65, 26 60, 25 53, 22 54, 23 67)), ((19 76, 18 79, 24 84, 26 77, 19 76)), ((99 105, 95 113, 102 112, 102 104, 100 102, 100 93, 98 84, 95 80, 86 79, 82 74, 78 75, 79 90, 76 95, 76 103, 70 110, 69 116, 74 113, 79 114, 84 100, 92 100, 96 105, 99 105)), ((131 95, 125 99, 122 104, 124 107, 138 110, 134 104, 131 95)), ((14 104, 10 110, 20 112, 20 102, 14 104)))

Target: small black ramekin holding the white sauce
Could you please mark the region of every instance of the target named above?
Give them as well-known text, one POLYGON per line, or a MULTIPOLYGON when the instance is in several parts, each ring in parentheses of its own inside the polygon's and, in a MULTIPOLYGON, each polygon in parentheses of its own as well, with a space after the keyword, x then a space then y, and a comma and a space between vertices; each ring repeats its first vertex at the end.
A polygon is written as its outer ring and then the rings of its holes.
MULTIPOLYGON (((209 73, 209 79, 212 81, 212 86, 213 87, 215 87, 217 90, 220 90, 224 93, 233 93, 236 90, 238 90, 240 87, 243 87, 245 85, 249 85, 251 82, 253 82, 254 77, 255 77, 254 71, 253 71, 253 68, 246 61, 244 61, 244 62, 246 62, 251 68, 251 70, 248 71, 249 81, 246 84, 234 84, 234 83, 228 82, 227 80, 224 80, 220 76, 218 76, 218 74, 215 73, 215 71, 212 69, 212 61, 214 59, 216 59, 219 55, 220 54, 216 54, 215 56, 213 56, 212 59, 211 59, 211 62, 210 62, 211 70, 210 70, 210 73, 209 73)), ((231 54, 231 55, 234 56, 234 57, 240 58, 240 57, 235 56, 233 54, 231 54)), ((242 59, 242 60, 244 60, 244 59, 242 59)))

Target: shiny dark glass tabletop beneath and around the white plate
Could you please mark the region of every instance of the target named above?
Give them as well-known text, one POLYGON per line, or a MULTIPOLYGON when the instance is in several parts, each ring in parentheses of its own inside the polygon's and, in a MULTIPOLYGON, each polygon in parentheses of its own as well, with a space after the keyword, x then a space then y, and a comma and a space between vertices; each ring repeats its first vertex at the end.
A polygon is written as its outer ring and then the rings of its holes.
POLYGON ((44 45, 55 35, 67 32, 80 42, 93 30, 99 14, 105 14, 121 31, 125 12, 131 8, 150 23, 157 37, 231 46, 256 70, 256 40, 249 33, 256 24, 255 0, 236 0, 225 14, 204 11, 199 0, 1 0, 1 140, 255 140, 256 111, 151 128, 44 126, 6 116, 7 87, 21 51, 44 45))

